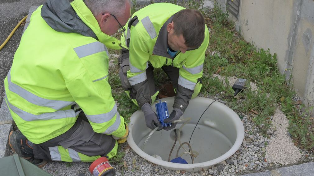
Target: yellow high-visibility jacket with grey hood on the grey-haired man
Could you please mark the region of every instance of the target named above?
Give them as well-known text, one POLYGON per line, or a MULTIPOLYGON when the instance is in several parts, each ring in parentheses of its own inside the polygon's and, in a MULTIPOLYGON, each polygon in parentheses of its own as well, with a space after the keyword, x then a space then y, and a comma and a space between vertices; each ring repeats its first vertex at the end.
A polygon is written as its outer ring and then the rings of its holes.
POLYGON ((31 142, 42 143, 73 126, 77 104, 95 132, 122 137, 107 50, 121 49, 120 41, 101 32, 82 0, 65 2, 48 1, 30 18, 4 80, 11 115, 31 142))

